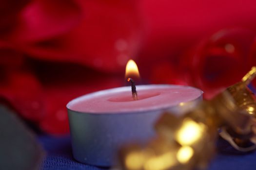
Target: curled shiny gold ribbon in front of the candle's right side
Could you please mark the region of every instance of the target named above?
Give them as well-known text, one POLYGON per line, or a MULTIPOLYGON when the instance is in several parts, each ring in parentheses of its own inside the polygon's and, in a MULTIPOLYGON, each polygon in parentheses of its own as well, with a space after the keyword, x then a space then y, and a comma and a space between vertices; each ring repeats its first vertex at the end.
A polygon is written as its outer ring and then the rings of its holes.
MULTIPOLYGON (((123 170, 206 169, 215 153, 217 129, 238 151, 256 149, 256 98, 247 87, 253 67, 241 82, 185 115, 163 113, 155 124, 157 136, 146 146, 127 145, 119 152, 123 170)), ((180 103, 178 107, 189 103, 180 103)))

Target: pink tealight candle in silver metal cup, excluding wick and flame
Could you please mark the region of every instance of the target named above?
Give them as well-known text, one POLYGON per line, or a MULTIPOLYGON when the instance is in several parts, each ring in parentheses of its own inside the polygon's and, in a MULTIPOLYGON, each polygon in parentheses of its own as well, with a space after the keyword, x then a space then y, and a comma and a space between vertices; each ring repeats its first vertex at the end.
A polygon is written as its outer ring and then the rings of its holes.
POLYGON ((181 85, 138 85, 102 90, 67 104, 73 155, 82 163, 111 166, 118 148, 155 135, 154 123, 164 111, 182 114, 202 99, 202 91, 181 85))

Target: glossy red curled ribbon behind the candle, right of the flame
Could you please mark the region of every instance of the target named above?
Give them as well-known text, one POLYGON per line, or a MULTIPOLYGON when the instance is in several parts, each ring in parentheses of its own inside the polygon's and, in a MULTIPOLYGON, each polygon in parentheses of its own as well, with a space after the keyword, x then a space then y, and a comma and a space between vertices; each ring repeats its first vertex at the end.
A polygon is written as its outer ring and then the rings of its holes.
POLYGON ((255 33, 246 29, 226 29, 201 41, 183 59, 189 84, 204 91, 206 98, 240 81, 250 70, 249 52, 255 33))

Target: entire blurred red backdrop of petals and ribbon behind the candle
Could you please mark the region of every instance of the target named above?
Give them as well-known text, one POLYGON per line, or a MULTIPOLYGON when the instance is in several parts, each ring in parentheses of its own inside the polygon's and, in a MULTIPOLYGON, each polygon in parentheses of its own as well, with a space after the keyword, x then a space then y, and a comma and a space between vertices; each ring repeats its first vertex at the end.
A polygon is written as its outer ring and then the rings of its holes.
POLYGON ((143 82, 205 98, 256 65, 255 0, 0 0, 0 99, 43 132, 68 133, 65 105, 143 82))

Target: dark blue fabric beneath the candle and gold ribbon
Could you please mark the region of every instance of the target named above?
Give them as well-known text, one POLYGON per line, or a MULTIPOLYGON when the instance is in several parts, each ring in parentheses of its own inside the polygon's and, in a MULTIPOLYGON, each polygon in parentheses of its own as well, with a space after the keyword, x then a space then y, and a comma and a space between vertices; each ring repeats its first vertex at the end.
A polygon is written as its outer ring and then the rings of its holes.
MULTIPOLYGON (((39 142, 47 151, 42 170, 107 170, 77 162, 72 157, 70 136, 39 136, 39 142)), ((256 152, 239 153, 220 139, 218 153, 209 170, 256 170, 256 152)))

